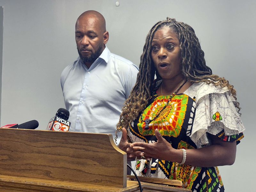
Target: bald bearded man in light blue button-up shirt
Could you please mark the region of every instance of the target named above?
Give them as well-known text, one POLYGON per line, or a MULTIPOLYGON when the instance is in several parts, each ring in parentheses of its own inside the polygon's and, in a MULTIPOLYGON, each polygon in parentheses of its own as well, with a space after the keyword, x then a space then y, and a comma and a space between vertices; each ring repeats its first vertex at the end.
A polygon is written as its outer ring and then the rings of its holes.
POLYGON ((78 59, 61 74, 61 87, 73 132, 115 134, 115 127, 136 82, 138 67, 111 53, 104 17, 82 13, 76 21, 78 59))

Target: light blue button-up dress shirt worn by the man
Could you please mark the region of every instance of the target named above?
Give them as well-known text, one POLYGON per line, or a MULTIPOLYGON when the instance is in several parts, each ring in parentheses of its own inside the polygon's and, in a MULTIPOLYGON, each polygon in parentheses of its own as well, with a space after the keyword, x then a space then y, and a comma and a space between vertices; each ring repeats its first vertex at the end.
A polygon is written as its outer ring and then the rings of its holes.
MULTIPOLYGON (((69 131, 111 133, 136 82, 138 67, 107 47, 88 69, 78 58, 61 74, 61 87, 71 122, 69 131)), ((118 135, 118 141, 120 140, 118 135)))

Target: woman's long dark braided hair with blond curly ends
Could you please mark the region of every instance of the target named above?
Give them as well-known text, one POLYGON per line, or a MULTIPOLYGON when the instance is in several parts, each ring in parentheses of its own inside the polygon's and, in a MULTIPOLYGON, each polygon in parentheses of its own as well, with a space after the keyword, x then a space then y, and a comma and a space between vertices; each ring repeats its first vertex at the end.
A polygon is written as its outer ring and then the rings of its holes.
MULTIPOLYGON (((132 122, 143 111, 151 97, 151 92, 155 88, 156 81, 161 80, 161 76, 156 71, 154 62, 151 58, 151 42, 155 32, 158 29, 169 27, 175 32, 180 41, 181 50, 181 68, 182 74, 190 82, 205 82, 207 84, 227 86, 232 96, 236 100, 236 90, 233 85, 228 83, 224 77, 212 75, 212 69, 206 66, 204 60, 204 52, 201 49, 195 31, 188 24, 177 22, 175 19, 167 17, 167 20, 157 22, 149 31, 146 43, 143 47, 143 53, 140 56, 140 70, 137 76, 130 97, 125 101, 122 109, 117 131, 121 131, 122 127, 128 128, 132 122), (156 75, 156 79, 154 80, 156 75)), ((240 110, 239 103, 236 102, 238 112, 240 110)), ((117 138, 117 135, 116 135, 117 138)))

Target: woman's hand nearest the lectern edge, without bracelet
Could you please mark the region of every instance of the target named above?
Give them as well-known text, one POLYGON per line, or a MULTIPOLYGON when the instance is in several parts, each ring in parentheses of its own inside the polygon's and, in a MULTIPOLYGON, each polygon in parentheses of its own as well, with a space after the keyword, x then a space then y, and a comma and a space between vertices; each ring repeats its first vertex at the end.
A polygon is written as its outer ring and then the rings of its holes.
MULTIPOLYGON (((128 161, 134 161, 137 154, 141 154, 141 151, 133 151, 131 148, 132 143, 129 143, 127 141, 127 130, 125 128, 122 128, 122 138, 120 140, 120 143, 118 147, 127 153, 127 160, 128 161)), ((141 156, 137 155, 137 158, 140 159, 141 156)))

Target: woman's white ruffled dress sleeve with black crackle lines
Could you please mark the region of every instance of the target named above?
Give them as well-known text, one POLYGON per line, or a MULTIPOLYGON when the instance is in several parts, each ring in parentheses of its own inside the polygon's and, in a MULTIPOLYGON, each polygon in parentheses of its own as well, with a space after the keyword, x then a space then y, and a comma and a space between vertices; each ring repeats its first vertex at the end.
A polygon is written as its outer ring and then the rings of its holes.
POLYGON ((201 84, 196 91, 196 115, 191 140, 200 148, 210 145, 207 134, 217 135, 221 140, 240 142, 244 137, 244 125, 236 111, 236 100, 227 88, 201 84))

